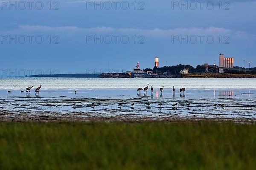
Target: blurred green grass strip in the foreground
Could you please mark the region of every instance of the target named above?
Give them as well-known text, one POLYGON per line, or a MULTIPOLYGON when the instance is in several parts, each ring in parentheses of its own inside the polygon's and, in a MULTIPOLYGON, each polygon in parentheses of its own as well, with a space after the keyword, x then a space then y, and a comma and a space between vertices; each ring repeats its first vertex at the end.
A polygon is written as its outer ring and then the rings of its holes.
POLYGON ((256 125, 0 122, 1 169, 256 169, 256 125))

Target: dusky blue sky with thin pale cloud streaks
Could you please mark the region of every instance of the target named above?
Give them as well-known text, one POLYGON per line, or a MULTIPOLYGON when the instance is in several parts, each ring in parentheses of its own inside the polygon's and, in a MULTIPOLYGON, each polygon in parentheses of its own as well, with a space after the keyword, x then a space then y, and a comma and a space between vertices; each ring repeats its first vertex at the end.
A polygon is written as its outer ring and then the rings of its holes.
MULTIPOLYGON (((204 63, 256 67, 256 1, 0 0, 4 75, 204 63)), ((110 71, 108 71, 110 69, 110 71)))

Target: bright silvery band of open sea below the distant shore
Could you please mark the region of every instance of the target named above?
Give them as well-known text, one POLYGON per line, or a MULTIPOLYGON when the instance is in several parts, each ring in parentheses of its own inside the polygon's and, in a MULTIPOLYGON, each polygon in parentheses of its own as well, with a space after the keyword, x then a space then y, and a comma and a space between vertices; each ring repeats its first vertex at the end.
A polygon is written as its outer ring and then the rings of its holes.
POLYGON ((137 89, 154 88, 256 89, 256 79, 118 79, 118 78, 1 78, 0 90, 21 90, 29 86, 46 89, 137 89))

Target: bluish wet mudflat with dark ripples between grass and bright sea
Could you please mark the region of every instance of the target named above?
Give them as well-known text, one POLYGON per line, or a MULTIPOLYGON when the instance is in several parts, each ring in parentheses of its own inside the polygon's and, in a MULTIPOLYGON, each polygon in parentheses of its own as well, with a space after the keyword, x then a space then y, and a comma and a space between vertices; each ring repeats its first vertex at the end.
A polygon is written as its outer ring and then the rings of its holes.
POLYGON ((0 121, 256 121, 255 90, 165 89, 153 96, 136 89, 44 90, 35 95, 0 91, 0 121))

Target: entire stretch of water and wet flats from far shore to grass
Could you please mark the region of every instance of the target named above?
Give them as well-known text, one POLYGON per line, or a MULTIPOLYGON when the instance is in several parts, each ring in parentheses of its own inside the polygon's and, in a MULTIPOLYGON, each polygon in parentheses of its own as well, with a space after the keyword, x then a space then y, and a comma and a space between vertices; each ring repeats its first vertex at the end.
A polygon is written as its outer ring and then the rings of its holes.
POLYGON ((19 78, 1 79, 0 82, 0 117, 3 120, 58 118, 84 121, 98 117, 117 120, 256 120, 254 79, 19 78), (39 95, 35 89, 30 93, 20 92, 21 87, 29 86, 28 81, 34 86, 42 84, 39 95), (155 88, 152 96, 150 90, 147 94, 141 91, 141 95, 137 95, 138 83, 142 87, 147 83, 161 87, 162 83, 165 88, 163 94, 155 88), (177 89, 186 87, 184 95, 176 90, 173 96, 173 85, 177 89), (77 94, 74 94, 75 90, 77 94))

